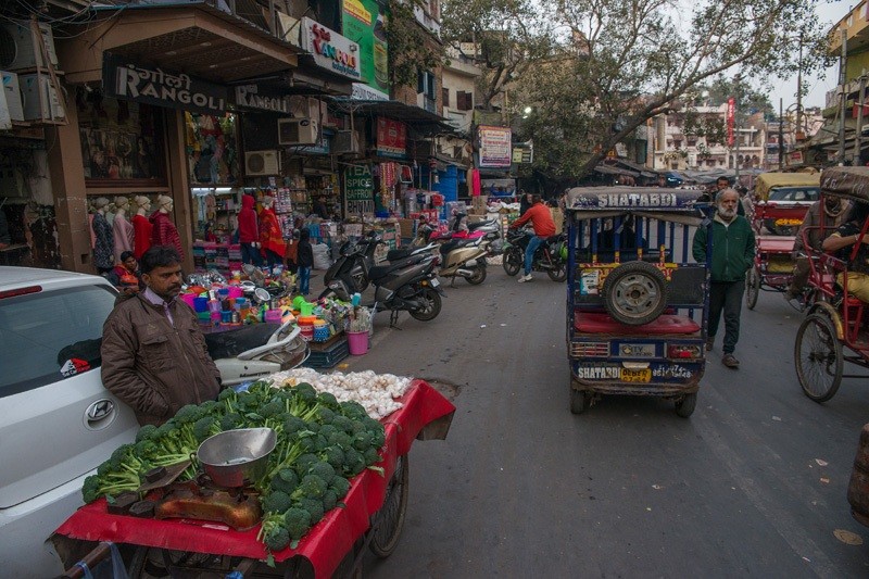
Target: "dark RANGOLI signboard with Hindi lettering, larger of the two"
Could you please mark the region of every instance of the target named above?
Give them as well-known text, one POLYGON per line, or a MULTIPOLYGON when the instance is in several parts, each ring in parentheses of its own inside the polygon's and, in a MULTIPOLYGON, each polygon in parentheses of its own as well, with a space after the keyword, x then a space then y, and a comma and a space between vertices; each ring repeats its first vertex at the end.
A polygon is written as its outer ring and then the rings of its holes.
POLYGON ((102 78, 106 97, 192 113, 223 113, 229 96, 227 87, 110 53, 103 54, 102 78))

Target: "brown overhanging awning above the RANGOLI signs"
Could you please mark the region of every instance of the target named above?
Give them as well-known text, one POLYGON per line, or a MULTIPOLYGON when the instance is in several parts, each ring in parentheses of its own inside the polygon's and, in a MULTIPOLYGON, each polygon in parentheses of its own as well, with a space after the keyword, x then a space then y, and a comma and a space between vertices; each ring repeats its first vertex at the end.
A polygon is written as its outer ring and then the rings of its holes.
POLYGON ((125 4, 97 12, 85 26, 67 26, 63 36, 68 39, 58 39, 68 56, 67 81, 100 80, 103 52, 224 85, 291 71, 302 52, 207 2, 125 4))

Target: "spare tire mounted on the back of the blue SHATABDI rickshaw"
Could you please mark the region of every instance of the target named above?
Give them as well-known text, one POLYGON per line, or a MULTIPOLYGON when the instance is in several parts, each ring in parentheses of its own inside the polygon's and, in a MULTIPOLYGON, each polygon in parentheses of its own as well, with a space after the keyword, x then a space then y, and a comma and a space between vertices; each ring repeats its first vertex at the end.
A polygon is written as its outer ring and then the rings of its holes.
POLYGON ((603 293, 606 313, 630 326, 648 324, 667 307, 667 281, 651 263, 619 265, 606 276, 603 293))

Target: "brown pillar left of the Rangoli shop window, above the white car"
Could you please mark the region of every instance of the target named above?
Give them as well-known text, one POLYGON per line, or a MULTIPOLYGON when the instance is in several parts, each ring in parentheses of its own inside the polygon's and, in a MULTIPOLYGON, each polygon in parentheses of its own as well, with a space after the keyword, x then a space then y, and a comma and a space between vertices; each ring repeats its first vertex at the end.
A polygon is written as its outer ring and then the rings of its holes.
POLYGON ((75 89, 66 92, 64 109, 67 124, 46 128, 61 267, 70 272, 96 273, 93 251, 90 247, 85 165, 78 137, 75 89))

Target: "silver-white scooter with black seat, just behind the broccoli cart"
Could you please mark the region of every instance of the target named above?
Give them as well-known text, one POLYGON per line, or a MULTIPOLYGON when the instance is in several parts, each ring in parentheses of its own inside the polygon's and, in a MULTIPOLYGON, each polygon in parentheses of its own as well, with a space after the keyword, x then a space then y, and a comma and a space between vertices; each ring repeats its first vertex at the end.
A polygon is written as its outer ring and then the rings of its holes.
POLYGON ((224 386, 257 380, 302 365, 311 350, 294 322, 275 329, 274 324, 253 324, 205 333, 205 343, 224 386))

